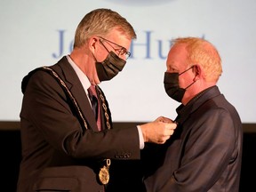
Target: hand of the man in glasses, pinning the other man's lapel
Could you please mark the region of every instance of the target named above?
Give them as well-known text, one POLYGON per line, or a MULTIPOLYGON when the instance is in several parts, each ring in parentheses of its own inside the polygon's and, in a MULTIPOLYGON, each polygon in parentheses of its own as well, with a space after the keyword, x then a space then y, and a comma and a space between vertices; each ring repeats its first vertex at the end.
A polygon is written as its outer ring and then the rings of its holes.
POLYGON ((154 122, 140 124, 144 142, 157 144, 164 144, 172 136, 176 127, 177 124, 173 123, 172 119, 164 116, 159 116, 154 122))

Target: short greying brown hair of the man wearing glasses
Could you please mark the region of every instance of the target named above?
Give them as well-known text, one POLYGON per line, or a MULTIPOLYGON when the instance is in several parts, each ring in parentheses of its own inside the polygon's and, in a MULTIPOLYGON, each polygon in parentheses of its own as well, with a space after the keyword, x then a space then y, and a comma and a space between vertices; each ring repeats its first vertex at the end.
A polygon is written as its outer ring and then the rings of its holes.
POLYGON ((108 35, 113 28, 130 39, 136 38, 132 25, 119 13, 103 8, 87 13, 76 28, 74 48, 84 45, 91 36, 108 35))

